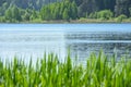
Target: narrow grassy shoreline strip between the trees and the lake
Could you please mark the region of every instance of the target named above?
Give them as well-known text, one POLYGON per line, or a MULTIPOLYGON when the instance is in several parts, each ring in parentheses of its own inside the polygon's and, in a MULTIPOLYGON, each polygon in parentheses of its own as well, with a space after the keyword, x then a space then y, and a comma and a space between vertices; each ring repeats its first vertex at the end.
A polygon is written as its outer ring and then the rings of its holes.
POLYGON ((0 22, 0 24, 90 24, 90 23, 131 23, 130 18, 118 22, 116 20, 71 20, 71 21, 26 21, 26 22, 0 22))

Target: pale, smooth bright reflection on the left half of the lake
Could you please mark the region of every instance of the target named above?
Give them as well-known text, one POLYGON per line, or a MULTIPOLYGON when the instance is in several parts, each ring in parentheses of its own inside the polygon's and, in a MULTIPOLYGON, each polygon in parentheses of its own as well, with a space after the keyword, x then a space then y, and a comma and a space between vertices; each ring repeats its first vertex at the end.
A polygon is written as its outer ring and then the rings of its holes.
POLYGON ((48 28, 37 30, 38 27, 23 30, 22 27, 16 27, 17 29, 10 27, 8 30, 4 28, 0 32, 0 57, 3 61, 4 59, 11 61, 16 55, 25 62, 29 62, 31 58, 36 62, 37 58, 43 58, 45 52, 53 52, 63 58, 63 32, 53 32, 53 29, 50 32, 48 28))

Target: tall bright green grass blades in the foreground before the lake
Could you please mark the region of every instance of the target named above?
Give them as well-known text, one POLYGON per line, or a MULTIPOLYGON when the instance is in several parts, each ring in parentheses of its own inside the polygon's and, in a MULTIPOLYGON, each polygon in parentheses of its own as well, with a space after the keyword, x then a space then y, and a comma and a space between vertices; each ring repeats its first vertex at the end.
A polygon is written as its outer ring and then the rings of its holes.
POLYGON ((86 66, 76 64, 67 55, 59 62, 53 53, 44 55, 32 64, 14 58, 13 62, 0 62, 0 87, 131 87, 131 60, 116 61, 102 51, 92 53, 86 66))

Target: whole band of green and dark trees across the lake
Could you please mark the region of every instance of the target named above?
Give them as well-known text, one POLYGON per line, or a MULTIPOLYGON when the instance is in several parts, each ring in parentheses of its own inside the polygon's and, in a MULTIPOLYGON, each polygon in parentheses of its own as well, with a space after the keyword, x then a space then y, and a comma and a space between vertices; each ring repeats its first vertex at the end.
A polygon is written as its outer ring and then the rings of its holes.
POLYGON ((0 22, 131 17, 131 0, 0 0, 0 22))

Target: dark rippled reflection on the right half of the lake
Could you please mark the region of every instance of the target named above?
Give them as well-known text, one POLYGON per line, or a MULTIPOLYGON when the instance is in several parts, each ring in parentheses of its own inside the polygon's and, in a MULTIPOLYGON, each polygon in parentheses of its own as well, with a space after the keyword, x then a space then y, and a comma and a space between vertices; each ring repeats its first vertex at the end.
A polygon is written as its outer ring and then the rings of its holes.
POLYGON ((95 52, 98 54, 99 50, 107 55, 117 53, 118 58, 124 54, 131 54, 131 33, 121 32, 97 32, 97 33, 67 33, 66 48, 70 47, 71 55, 78 55, 79 61, 85 63, 85 59, 95 52))

